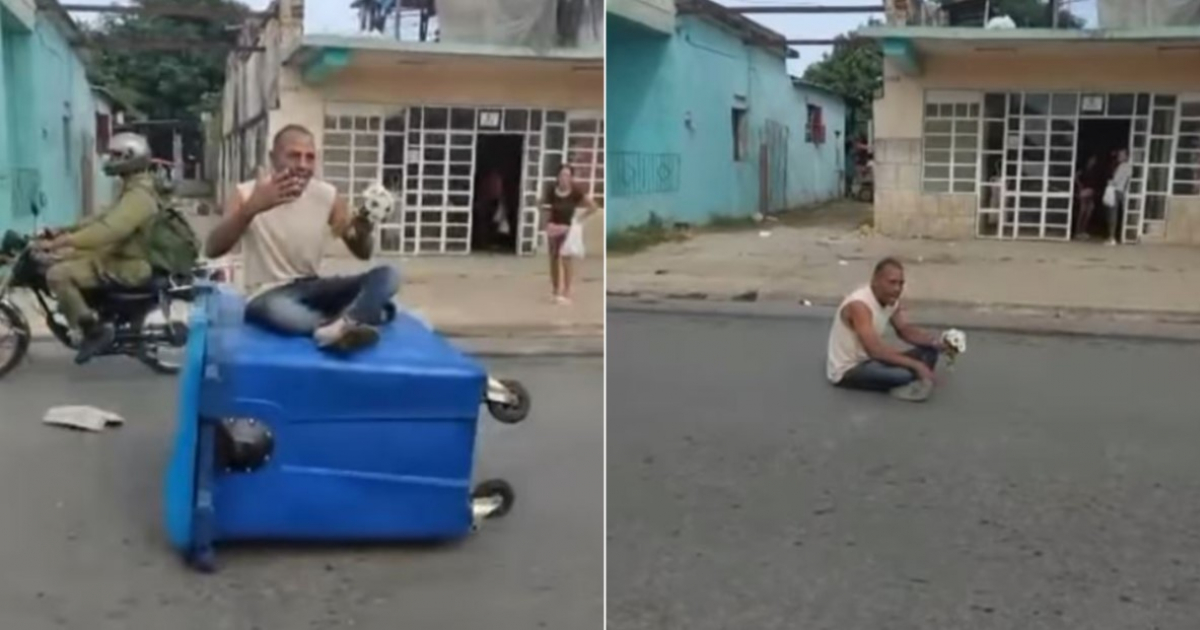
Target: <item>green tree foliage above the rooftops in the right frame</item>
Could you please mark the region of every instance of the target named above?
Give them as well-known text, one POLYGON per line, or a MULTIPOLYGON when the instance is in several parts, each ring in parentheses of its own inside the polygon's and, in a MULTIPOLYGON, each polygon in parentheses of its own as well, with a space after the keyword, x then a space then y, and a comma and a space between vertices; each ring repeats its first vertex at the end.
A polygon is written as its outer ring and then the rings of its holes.
MULTIPOLYGON (((1050 6, 1045 0, 991 0, 991 12, 994 16, 1013 18, 1020 28, 1051 25, 1050 6)), ((866 23, 868 26, 881 24, 877 19, 866 23)), ((1082 25, 1084 22, 1069 11, 1060 11, 1060 28, 1078 29, 1082 25)), ((804 71, 804 80, 851 98, 856 104, 856 128, 850 130, 848 136, 863 134, 866 122, 871 120, 871 103, 883 82, 883 53, 874 40, 839 36, 833 53, 826 54, 821 61, 804 71)))

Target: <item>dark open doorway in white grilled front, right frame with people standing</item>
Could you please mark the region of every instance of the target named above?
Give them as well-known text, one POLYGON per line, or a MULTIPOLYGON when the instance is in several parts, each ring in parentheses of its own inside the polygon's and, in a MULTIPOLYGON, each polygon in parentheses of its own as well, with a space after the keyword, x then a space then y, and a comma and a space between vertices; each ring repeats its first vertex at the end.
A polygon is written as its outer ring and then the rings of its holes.
MULTIPOLYGON (((1082 202, 1079 194, 1075 196, 1075 229, 1076 235, 1082 238, 1106 238, 1109 226, 1104 212, 1103 198, 1104 188, 1112 178, 1112 172, 1117 167, 1117 151, 1129 149, 1129 133, 1133 130, 1130 119, 1080 119, 1079 138, 1075 148, 1075 173, 1084 174, 1086 184, 1093 188, 1094 200, 1091 220, 1086 226, 1080 226, 1079 220, 1082 210, 1082 202), (1087 172, 1088 162, 1096 158, 1094 170, 1087 172)), ((1078 186, 1078 185, 1076 185, 1078 186)), ((1078 188, 1076 188, 1078 190, 1078 188)), ((1115 234, 1121 234, 1123 229, 1124 211, 1117 212, 1117 229, 1115 234)))

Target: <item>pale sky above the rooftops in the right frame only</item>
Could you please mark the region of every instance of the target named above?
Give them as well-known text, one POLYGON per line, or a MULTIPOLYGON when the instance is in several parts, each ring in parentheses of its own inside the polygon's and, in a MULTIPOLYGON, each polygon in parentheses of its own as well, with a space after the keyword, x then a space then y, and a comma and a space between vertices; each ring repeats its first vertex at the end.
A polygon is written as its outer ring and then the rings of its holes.
MULTIPOLYGON (((866 5, 876 0, 718 0, 725 6, 770 6, 770 5, 866 5)), ((882 4, 882 2, 881 2, 882 4)), ((1096 24, 1096 0, 1074 0, 1070 10, 1076 16, 1084 18, 1088 24, 1096 24)), ((882 13, 877 14, 881 19, 882 13)), ((833 37, 852 31, 862 26, 871 18, 870 13, 846 13, 829 16, 749 16, 751 19, 761 22, 769 29, 784 34, 788 40, 832 40, 833 37)), ((794 47, 800 53, 800 58, 788 64, 792 74, 803 74, 804 68, 815 61, 820 61, 822 55, 829 53, 828 46, 799 46, 794 47)))

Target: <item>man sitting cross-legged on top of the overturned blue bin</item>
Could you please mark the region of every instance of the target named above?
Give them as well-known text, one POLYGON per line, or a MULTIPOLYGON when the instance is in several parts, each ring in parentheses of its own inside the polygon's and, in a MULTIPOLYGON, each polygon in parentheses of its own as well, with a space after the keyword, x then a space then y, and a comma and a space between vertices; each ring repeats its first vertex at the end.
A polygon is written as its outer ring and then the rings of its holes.
POLYGON ((379 265, 365 274, 319 277, 330 235, 368 260, 373 227, 352 212, 334 185, 313 179, 317 149, 312 132, 281 130, 271 145, 271 172, 244 182, 230 196, 224 220, 209 235, 209 258, 241 241, 246 319, 282 334, 312 335, 324 349, 354 352, 379 340, 400 288, 400 274, 379 265))

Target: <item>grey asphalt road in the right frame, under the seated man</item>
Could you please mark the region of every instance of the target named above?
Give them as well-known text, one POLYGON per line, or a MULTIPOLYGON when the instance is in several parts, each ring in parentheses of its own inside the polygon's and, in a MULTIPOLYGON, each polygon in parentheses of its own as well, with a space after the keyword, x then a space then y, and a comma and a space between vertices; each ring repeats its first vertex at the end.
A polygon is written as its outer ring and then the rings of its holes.
POLYGON ((1196 346, 973 334, 911 404, 823 319, 607 325, 610 630, 1196 628, 1196 346))

